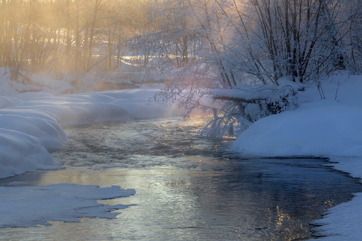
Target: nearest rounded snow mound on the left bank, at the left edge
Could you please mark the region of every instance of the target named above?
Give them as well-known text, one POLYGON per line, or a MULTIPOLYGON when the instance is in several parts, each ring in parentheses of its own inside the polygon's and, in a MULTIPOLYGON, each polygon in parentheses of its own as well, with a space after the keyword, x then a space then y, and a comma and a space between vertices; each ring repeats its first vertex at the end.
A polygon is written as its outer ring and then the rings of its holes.
POLYGON ((38 138, 0 128, 0 178, 54 168, 53 159, 38 138))

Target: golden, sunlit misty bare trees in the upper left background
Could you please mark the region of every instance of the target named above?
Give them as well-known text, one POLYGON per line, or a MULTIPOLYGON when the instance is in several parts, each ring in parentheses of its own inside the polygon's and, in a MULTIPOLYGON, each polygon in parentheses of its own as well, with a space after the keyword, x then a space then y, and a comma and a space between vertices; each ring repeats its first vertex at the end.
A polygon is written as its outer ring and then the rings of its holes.
POLYGON ((0 66, 79 76, 121 64, 126 41, 148 26, 143 1, 2 0, 0 66))

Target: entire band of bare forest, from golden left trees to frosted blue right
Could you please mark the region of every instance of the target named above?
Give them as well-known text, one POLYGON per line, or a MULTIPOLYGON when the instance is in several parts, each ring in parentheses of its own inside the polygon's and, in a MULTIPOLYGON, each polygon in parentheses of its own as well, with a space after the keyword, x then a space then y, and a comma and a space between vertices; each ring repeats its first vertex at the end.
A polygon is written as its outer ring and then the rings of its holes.
MULTIPOLYGON (((195 108, 214 111, 225 132, 297 108, 297 92, 311 83, 323 99, 320 78, 361 73, 360 4, 3 0, 0 66, 9 68, 13 82, 33 83, 35 74, 75 90, 92 90, 110 75, 127 81, 125 73, 138 73, 131 80, 139 84, 166 81, 156 100, 177 100, 184 116, 195 108), (243 90, 244 102, 210 108, 203 101, 215 89, 243 90)), ((214 92, 230 100, 224 94, 214 92)))

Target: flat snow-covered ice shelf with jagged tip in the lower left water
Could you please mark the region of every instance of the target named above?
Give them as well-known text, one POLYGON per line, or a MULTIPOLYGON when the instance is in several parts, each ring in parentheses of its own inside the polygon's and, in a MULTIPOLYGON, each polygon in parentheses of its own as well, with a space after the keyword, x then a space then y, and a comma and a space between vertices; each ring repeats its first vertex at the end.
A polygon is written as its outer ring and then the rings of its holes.
POLYGON ((0 187, 0 228, 49 225, 47 221, 79 221, 81 217, 115 218, 110 212, 130 205, 104 205, 97 199, 128 197, 134 189, 76 184, 0 187))

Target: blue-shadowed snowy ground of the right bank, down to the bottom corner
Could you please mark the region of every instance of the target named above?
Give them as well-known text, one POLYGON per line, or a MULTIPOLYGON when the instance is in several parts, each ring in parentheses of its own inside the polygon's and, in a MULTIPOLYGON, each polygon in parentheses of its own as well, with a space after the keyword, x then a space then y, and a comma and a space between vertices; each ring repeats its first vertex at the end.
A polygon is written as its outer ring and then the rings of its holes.
MULTIPOLYGON (((256 121, 237 137, 233 149, 263 156, 324 156, 332 166, 362 178, 362 77, 336 75, 299 93, 300 107, 256 121), (322 95, 323 95, 322 93, 322 95)), ((235 93, 234 93, 235 94, 235 93)), ((320 240, 361 240, 362 193, 313 222, 320 240)))

